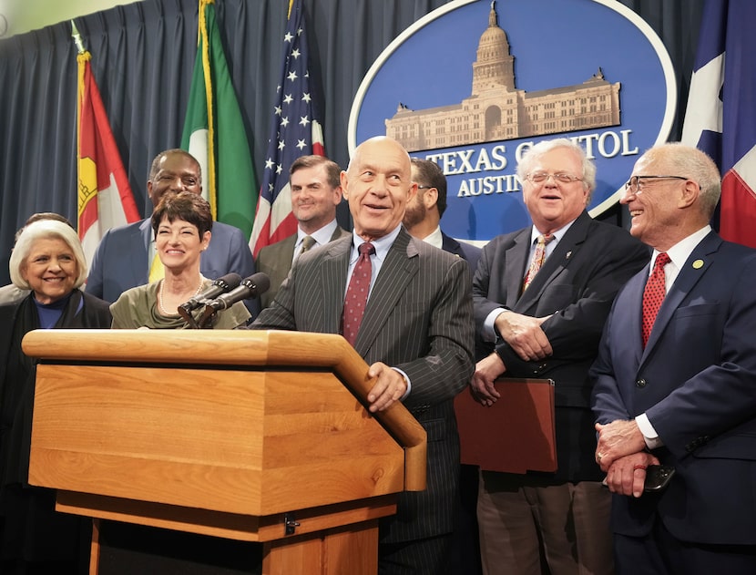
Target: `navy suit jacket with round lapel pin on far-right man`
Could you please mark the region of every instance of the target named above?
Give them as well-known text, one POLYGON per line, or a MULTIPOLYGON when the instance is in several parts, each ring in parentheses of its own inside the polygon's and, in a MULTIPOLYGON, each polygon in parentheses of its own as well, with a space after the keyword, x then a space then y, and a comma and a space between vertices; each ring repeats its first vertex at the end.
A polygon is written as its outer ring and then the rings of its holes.
POLYGON ((644 350, 649 267, 618 293, 591 369, 600 423, 646 413, 677 475, 659 495, 615 496, 612 524, 700 543, 756 544, 756 251, 711 232, 661 305, 644 350))

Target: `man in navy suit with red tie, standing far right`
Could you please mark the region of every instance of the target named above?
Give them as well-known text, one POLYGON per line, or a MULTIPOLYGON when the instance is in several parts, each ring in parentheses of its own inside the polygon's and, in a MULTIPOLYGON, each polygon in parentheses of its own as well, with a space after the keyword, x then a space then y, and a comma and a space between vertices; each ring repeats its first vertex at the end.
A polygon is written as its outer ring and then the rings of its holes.
POLYGON ((665 144, 621 200, 653 255, 618 293, 591 368, 618 573, 756 573, 756 251, 711 231, 719 198, 714 162, 665 144), (658 463, 676 473, 644 492, 658 463))

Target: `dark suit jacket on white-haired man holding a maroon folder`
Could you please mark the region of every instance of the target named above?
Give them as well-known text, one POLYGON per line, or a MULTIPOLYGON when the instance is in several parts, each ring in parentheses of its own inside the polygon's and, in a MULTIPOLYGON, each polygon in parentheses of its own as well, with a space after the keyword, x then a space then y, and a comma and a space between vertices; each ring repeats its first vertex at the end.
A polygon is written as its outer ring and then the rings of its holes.
MULTIPOLYGON (((590 411, 590 365, 615 295, 649 261, 649 249, 628 231, 592 220, 584 211, 565 232, 525 293, 531 228, 489 241, 473 281, 475 325, 483 333, 485 318, 504 307, 532 317, 550 315, 541 328, 553 353, 540 361, 523 361, 499 338, 495 344, 506 376, 553 379, 557 426, 557 473, 553 481, 600 481, 596 435, 590 411)), ((492 349, 488 344, 488 351, 492 349)))

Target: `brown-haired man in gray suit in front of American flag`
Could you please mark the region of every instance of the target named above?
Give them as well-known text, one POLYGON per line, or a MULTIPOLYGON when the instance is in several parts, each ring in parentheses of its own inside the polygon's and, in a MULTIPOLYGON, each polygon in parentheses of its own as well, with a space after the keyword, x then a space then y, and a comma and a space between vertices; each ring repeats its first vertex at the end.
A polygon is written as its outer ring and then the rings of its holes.
POLYGON ((342 169, 323 156, 301 156, 289 169, 291 214, 297 220, 297 232, 265 246, 257 254, 258 272, 271 279, 271 289, 260 296, 263 308, 271 305, 281 282, 291 270, 291 263, 302 251, 352 236, 336 223, 336 206, 342 202, 342 169))

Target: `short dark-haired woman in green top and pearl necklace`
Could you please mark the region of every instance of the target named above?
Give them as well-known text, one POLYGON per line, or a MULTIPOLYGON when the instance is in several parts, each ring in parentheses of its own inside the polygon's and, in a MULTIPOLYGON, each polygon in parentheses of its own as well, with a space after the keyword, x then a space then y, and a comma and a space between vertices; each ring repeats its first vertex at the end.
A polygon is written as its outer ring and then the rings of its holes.
MULTIPOLYGON (((165 269, 162 280, 121 293, 110 305, 114 329, 185 329, 179 315, 181 303, 206 290, 212 280, 199 272, 199 256, 207 250, 212 235, 209 203, 189 191, 168 192, 152 212, 155 251, 165 269)), ((193 313, 199 321, 203 309, 193 313)), ((214 329, 233 329, 247 323, 250 313, 243 303, 234 303, 212 318, 214 329)))

